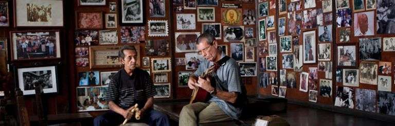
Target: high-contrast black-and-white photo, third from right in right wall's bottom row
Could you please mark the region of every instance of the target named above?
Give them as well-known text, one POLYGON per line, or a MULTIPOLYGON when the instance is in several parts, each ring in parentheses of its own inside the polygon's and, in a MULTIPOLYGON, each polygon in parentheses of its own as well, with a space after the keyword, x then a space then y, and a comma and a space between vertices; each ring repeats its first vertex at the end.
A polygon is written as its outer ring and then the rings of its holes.
POLYGON ((335 106, 354 109, 354 89, 346 86, 336 86, 335 106))

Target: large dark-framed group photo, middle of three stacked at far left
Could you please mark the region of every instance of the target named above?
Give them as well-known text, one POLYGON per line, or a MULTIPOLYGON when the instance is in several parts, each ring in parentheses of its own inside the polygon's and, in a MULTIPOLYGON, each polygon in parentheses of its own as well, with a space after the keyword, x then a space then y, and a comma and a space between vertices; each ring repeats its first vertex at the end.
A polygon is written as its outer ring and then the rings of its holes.
POLYGON ((10 34, 12 60, 60 58, 59 30, 10 31, 10 34), (38 39, 43 41, 38 43, 38 39))

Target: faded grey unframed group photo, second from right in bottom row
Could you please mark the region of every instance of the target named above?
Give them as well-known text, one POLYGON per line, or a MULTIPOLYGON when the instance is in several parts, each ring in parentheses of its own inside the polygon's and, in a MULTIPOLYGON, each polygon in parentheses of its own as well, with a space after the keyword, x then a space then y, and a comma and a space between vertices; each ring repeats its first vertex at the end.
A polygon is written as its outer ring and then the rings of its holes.
POLYGON ((355 89, 355 109, 376 112, 376 91, 371 89, 355 89))

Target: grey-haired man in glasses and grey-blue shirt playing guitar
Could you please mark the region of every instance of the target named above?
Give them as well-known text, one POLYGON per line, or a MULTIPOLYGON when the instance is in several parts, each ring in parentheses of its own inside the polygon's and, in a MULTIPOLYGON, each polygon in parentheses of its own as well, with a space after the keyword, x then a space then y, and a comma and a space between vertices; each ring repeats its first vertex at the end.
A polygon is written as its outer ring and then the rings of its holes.
POLYGON ((217 41, 209 33, 197 38, 196 47, 199 55, 205 59, 189 77, 188 87, 199 87, 199 90, 207 91, 210 95, 208 101, 185 105, 179 114, 179 125, 239 119, 246 101, 246 90, 240 81, 238 63, 218 49, 217 41), (201 78, 212 65, 216 66, 216 72, 205 79, 201 78))

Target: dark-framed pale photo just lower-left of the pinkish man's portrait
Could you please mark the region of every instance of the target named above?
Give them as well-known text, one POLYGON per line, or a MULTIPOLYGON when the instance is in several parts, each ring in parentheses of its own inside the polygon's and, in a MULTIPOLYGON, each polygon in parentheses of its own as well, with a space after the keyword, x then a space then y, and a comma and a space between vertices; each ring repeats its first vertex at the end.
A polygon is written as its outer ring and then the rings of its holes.
POLYGON ((337 46, 337 65, 355 66, 356 65, 355 46, 337 46))

